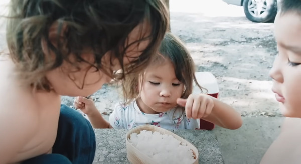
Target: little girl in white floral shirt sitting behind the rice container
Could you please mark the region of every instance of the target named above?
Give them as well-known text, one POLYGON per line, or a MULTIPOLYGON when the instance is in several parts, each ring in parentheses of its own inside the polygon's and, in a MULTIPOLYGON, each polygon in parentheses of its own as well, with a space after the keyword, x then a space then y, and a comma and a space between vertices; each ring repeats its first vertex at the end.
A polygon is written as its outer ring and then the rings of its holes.
POLYGON ((115 106, 109 122, 91 99, 78 97, 74 105, 88 115, 94 128, 132 129, 149 124, 169 130, 196 129, 199 119, 228 129, 242 125, 240 114, 231 106, 207 94, 192 94, 193 81, 202 90, 188 50, 180 39, 167 33, 144 72, 122 81, 124 92, 130 94, 124 95, 125 103, 115 106))

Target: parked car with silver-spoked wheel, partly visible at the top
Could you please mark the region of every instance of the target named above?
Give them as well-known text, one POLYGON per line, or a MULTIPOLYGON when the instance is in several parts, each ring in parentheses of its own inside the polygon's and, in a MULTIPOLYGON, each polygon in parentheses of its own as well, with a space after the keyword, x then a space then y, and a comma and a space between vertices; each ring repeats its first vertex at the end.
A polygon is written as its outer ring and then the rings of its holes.
POLYGON ((223 0, 228 4, 243 6, 246 17, 253 22, 269 22, 275 19, 280 0, 223 0))

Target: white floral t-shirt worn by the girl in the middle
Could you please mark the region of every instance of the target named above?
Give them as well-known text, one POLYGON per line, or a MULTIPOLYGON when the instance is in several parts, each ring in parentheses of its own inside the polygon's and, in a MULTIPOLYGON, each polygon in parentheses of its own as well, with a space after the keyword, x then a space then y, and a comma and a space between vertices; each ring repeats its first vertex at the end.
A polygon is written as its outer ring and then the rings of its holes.
POLYGON ((173 108, 160 114, 143 113, 136 101, 129 105, 116 105, 109 118, 113 128, 132 129, 140 125, 154 125, 167 130, 200 128, 199 119, 187 119, 180 108, 173 108))

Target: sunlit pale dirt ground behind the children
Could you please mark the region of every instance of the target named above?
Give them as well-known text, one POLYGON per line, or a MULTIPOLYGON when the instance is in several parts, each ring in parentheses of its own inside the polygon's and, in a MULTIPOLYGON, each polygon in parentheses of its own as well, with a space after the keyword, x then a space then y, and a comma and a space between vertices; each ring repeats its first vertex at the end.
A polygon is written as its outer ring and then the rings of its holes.
MULTIPOLYGON (((172 32, 186 43, 197 70, 218 79, 220 100, 244 117, 281 116, 268 77, 276 55, 273 23, 253 23, 242 7, 221 0, 171 0, 170 10, 172 32)), ((106 117, 119 101, 106 85, 94 98, 106 117)), ((62 102, 72 105, 72 99, 62 102)))

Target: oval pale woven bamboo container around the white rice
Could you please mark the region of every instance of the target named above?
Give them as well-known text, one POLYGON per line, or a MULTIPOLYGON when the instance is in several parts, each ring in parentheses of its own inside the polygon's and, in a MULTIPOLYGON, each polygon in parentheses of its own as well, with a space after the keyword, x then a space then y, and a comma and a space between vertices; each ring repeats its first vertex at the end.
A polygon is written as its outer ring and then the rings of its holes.
MULTIPOLYGON (((138 126, 127 132, 127 134, 126 134, 126 153, 127 153, 127 159, 130 163, 132 163, 132 164, 154 164, 154 163, 156 163, 156 161, 154 161, 152 158, 150 158, 146 154, 143 154, 142 152, 140 152, 136 147, 134 147, 132 145, 132 143, 129 142, 130 134, 132 134, 132 133, 139 134, 141 130, 147 130, 147 131, 153 131, 153 132, 157 131, 161 134, 172 135, 175 139, 181 141, 182 143, 186 143, 186 145, 188 147, 190 147, 190 149, 192 150, 192 152, 195 156, 195 160, 191 164, 199 163, 199 151, 194 145, 189 143, 187 140, 181 138, 180 136, 172 133, 171 131, 168 131, 166 129, 156 127, 153 125, 138 126)), ((168 161, 166 163, 168 163, 168 161)), ((190 164, 190 163, 187 163, 187 164, 190 164)))

